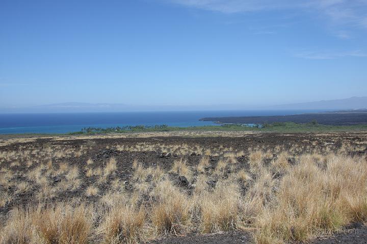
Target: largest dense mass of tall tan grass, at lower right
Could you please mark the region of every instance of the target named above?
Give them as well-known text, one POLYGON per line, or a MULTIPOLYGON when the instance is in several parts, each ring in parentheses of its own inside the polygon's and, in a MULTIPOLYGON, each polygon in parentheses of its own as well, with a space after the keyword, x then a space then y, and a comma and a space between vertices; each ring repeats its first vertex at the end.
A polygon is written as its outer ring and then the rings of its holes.
POLYGON ((275 208, 258 219, 257 242, 305 241, 365 220, 366 170, 365 161, 343 155, 330 157, 326 170, 316 166, 312 155, 302 156, 282 179, 275 208))

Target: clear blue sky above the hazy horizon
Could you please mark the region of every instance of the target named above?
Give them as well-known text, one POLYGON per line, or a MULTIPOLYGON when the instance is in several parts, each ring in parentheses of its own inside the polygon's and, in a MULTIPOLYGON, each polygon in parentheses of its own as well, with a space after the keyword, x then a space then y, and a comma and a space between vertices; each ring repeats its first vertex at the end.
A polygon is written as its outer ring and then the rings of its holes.
POLYGON ((0 2, 0 106, 367 95, 366 0, 0 2))

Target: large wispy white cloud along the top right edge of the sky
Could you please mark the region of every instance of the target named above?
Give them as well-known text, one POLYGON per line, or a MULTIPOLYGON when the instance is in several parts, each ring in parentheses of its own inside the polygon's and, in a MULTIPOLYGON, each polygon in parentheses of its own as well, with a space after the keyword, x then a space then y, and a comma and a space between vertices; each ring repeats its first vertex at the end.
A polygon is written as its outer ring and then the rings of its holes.
POLYGON ((222 13, 296 9, 319 13, 337 25, 367 28, 366 0, 163 0, 222 13))

